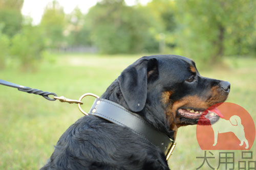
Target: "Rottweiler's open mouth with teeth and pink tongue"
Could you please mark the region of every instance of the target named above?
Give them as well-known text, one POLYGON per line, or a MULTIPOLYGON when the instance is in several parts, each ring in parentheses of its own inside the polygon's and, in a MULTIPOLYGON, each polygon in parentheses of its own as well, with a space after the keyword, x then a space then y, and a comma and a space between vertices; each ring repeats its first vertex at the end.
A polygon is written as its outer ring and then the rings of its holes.
POLYGON ((220 110, 216 107, 208 109, 198 109, 198 108, 179 108, 178 114, 185 119, 199 120, 199 119, 208 119, 215 120, 219 117, 223 118, 220 110), (207 115, 207 117, 206 117, 207 115))

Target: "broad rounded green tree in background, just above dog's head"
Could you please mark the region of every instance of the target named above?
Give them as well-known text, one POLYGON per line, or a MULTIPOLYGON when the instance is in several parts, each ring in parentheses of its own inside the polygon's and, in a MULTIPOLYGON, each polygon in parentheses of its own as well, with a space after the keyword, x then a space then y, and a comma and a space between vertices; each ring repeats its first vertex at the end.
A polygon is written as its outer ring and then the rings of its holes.
POLYGON ((126 6, 123 0, 97 3, 86 15, 93 43, 103 53, 142 52, 154 22, 146 10, 126 6))

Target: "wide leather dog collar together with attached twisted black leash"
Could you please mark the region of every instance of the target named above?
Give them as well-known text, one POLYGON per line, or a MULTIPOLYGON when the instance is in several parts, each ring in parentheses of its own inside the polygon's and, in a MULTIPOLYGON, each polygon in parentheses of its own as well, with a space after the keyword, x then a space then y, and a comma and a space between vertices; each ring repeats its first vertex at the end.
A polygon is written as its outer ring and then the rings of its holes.
POLYGON ((79 110, 84 115, 94 115, 94 116, 103 118, 105 120, 108 120, 112 123, 129 127, 136 134, 143 137, 146 141, 159 147, 160 150, 166 156, 166 160, 168 160, 170 155, 172 155, 173 150, 176 146, 176 142, 174 140, 170 139, 168 136, 158 131, 155 127, 153 127, 148 122, 146 122, 138 114, 135 114, 125 109, 123 106, 117 103, 114 103, 112 101, 100 99, 98 96, 92 93, 85 93, 79 98, 79 100, 71 100, 63 96, 57 97, 57 95, 54 92, 33 89, 30 87, 25 87, 25 86, 17 85, 14 83, 10 83, 2 79, 0 79, 0 84, 17 88, 19 91, 40 95, 50 101, 55 101, 56 99, 58 99, 60 102, 77 103, 79 110), (53 95, 54 97, 50 98, 49 97, 50 95, 53 95), (81 108, 81 104, 83 104, 81 100, 86 96, 93 96, 96 98, 89 114, 87 114, 87 112, 83 111, 81 108))

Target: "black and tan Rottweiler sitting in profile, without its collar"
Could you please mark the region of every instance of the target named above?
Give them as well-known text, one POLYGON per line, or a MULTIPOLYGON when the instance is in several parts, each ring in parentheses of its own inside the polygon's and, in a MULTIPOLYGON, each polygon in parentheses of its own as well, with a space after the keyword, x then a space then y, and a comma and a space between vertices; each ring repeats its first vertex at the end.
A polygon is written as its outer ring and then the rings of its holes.
MULTIPOLYGON (((179 55, 143 56, 123 70, 101 96, 138 114, 175 140, 181 126, 224 102, 230 83, 202 77, 179 55)), ((208 119, 213 122, 218 114, 208 119)), ((41 169, 169 169, 165 155, 125 126, 89 115, 71 125, 41 169)))

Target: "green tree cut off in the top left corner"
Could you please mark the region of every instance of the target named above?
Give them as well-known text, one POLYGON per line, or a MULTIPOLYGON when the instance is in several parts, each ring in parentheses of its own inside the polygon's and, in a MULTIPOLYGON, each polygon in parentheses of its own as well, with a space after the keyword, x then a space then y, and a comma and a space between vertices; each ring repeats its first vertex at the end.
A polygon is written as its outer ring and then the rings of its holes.
POLYGON ((22 28, 24 0, 0 0, 0 23, 4 24, 3 33, 13 36, 22 28))

